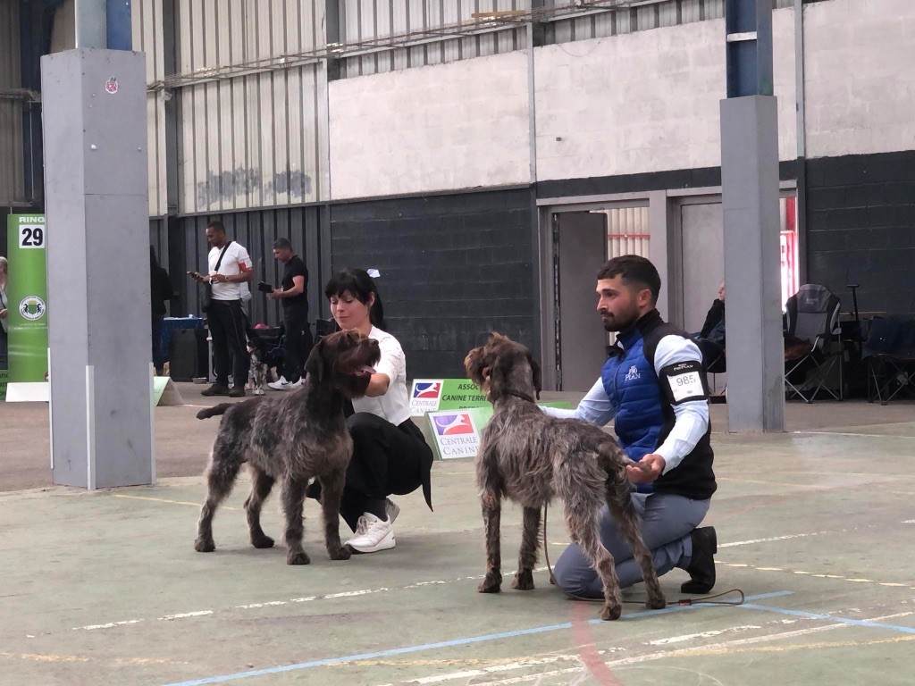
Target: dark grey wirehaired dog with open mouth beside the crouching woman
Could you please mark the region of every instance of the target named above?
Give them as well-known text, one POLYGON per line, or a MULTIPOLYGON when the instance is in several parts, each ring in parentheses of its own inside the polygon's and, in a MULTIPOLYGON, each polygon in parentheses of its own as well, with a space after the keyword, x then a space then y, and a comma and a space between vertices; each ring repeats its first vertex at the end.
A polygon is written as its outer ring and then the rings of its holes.
POLYGON ((282 481, 286 563, 310 562, 302 549, 302 503, 308 480, 318 477, 328 554, 331 560, 349 559, 350 551, 340 545, 339 537, 340 498, 352 456, 343 402, 365 394, 371 366, 380 358, 376 340, 362 338, 354 331, 340 331, 322 338, 312 349, 302 388, 279 397, 226 402, 197 414, 199 419, 223 416, 207 467, 210 490, 200 510, 194 550, 215 550, 213 515, 247 462, 252 487, 244 509, 255 548, 274 544, 261 528, 261 508, 274 481, 282 481))

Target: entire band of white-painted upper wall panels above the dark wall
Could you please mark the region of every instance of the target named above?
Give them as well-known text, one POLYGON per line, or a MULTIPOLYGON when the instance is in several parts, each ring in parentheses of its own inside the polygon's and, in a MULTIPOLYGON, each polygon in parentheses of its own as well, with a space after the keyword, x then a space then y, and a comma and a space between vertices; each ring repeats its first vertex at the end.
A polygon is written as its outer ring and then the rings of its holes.
MULTIPOLYGON (((806 5, 808 156, 915 149, 915 1, 806 5)), ((719 166, 724 20, 535 50, 537 176, 719 166), (560 140, 557 140, 560 139, 560 140)), ((773 14, 779 154, 797 156, 794 12, 773 14)), ((523 52, 330 84, 333 198, 526 183, 523 52)))

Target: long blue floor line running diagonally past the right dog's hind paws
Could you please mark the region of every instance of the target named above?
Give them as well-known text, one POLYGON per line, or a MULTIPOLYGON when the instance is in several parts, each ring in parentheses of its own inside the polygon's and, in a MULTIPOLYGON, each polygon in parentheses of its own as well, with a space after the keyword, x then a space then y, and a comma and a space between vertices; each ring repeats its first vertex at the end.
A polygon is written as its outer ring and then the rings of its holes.
MULTIPOLYGON (((763 593, 759 595, 748 595, 748 600, 762 600, 764 598, 773 598, 780 595, 791 595, 791 591, 777 591, 775 593, 763 593)), ((644 610, 624 615, 623 619, 635 619, 641 616, 662 615, 672 612, 683 612, 684 610, 693 610, 697 607, 712 607, 707 603, 696 603, 690 606, 670 606, 662 610, 644 610)), ((603 624, 601 619, 591 619, 588 624, 603 624)), ((483 643, 486 641, 500 640, 501 638, 516 638, 519 636, 531 636, 532 634, 544 634, 550 631, 560 631, 562 629, 572 628, 571 622, 564 624, 552 624, 545 627, 533 627, 527 629, 517 629, 515 631, 503 631, 499 634, 485 634, 483 636, 472 636, 468 638, 454 638, 447 641, 438 641, 437 643, 424 643, 418 646, 407 646, 405 648, 391 648, 389 650, 379 650, 373 653, 361 653, 358 655, 347 655, 341 658, 313 659, 308 662, 299 662, 294 665, 283 665, 280 667, 268 667, 263 670, 239 671, 234 674, 222 674, 215 677, 205 677, 204 679, 194 679, 191 681, 176 681, 166 684, 166 686, 204 686, 208 683, 225 683, 227 681, 237 681, 240 679, 250 679, 252 677, 263 677, 268 674, 280 674, 285 671, 310 670, 314 667, 327 667, 328 665, 339 665, 345 662, 357 662, 361 659, 378 659, 390 657, 392 655, 405 655, 407 653, 421 652, 425 650, 435 650, 436 648, 454 648, 455 646, 466 646, 472 643, 483 643)))

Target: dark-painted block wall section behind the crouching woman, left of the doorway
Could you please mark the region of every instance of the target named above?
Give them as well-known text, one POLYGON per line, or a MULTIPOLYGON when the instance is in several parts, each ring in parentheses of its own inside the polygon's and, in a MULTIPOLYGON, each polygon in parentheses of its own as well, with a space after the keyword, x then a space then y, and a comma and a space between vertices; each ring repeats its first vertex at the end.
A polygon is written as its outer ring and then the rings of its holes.
POLYGON ((528 189, 333 205, 331 259, 381 272, 411 378, 463 377, 490 330, 539 348, 531 218, 528 189))

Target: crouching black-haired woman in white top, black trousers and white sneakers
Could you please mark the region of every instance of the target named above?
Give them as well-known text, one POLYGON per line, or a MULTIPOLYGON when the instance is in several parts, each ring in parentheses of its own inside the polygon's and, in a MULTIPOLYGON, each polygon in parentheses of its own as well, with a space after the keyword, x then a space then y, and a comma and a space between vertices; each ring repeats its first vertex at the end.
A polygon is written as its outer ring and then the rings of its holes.
POLYGON ((347 541, 353 552, 384 551, 394 547, 393 520, 400 511, 389 495, 422 487, 432 509, 432 449, 410 419, 404 348, 383 330, 382 301, 371 276, 361 269, 336 273, 324 295, 340 328, 374 338, 382 351, 365 397, 352 402, 347 419, 353 454, 340 514, 355 532, 347 541))

